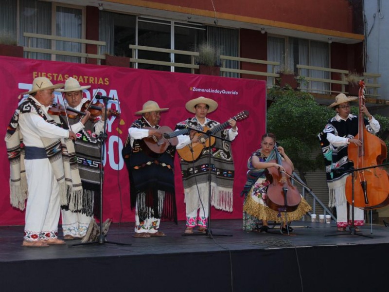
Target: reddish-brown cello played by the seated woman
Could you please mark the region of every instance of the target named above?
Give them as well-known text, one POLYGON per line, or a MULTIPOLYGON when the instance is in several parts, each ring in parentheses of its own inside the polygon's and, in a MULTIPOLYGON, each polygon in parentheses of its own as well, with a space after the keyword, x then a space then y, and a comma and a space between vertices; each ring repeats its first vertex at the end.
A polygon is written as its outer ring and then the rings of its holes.
POLYGON ((276 160, 270 160, 269 163, 277 163, 283 166, 286 174, 276 167, 268 168, 266 204, 275 211, 292 212, 297 209, 301 202, 299 190, 294 186, 289 177, 292 175, 293 169, 290 164, 281 159, 281 154, 277 149, 277 144, 274 145, 276 160))

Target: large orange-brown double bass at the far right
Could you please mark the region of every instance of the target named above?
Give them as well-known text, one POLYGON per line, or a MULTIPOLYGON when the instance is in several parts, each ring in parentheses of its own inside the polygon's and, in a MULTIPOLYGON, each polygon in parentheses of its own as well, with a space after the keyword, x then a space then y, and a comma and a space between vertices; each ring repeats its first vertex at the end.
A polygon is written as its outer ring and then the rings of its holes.
POLYGON ((354 206, 361 209, 378 209, 389 203, 389 174, 380 166, 387 157, 385 142, 371 134, 365 127, 361 107, 365 105, 365 82, 359 81, 359 114, 358 134, 354 139, 359 139, 362 145, 351 143, 347 152, 349 161, 354 164, 355 175, 348 176, 346 180, 346 199, 354 206), (358 170, 361 169, 361 170, 358 170))

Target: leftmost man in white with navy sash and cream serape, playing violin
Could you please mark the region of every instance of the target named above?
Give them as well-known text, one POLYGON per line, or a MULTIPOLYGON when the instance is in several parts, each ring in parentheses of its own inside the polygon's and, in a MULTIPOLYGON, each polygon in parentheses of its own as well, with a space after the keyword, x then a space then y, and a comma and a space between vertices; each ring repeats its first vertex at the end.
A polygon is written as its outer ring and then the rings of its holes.
POLYGON ((77 165, 70 159, 74 156, 70 139, 75 140, 76 134, 59 127, 59 117, 48 113, 53 91, 61 87, 46 77, 35 78, 32 90, 23 93, 29 96, 15 111, 5 137, 11 204, 24 210, 28 194, 22 244, 26 247, 65 243, 57 236, 60 202, 81 190, 77 165))

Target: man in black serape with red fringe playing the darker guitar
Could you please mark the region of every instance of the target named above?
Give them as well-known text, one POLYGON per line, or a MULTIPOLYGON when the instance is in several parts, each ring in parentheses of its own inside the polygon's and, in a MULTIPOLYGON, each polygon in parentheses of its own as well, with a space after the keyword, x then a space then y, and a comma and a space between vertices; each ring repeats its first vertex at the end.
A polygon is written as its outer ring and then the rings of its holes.
MULTIPOLYGON (((135 235, 137 238, 163 237, 159 231, 161 218, 177 223, 174 154, 175 147, 168 146, 161 154, 151 153, 142 139, 162 138, 158 130, 160 112, 158 103, 149 100, 142 110, 135 112, 142 115, 128 129, 122 155, 130 180, 131 208, 135 208, 135 235), (146 129, 147 128, 147 129, 146 129)), ((187 143, 189 136, 179 135, 178 143, 187 143), (185 142, 186 141, 186 142, 185 142)))

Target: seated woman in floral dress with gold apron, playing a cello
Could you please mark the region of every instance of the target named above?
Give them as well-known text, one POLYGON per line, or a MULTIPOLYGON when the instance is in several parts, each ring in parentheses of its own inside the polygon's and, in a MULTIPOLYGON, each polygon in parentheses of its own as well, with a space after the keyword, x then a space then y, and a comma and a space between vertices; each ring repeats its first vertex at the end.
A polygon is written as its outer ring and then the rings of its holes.
MULTIPOLYGON (((256 229, 257 222, 262 220, 260 232, 267 232, 269 229, 267 221, 271 220, 282 222, 282 233, 286 233, 288 230, 291 232, 292 228, 290 226, 288 226, 288 229, 286 228, 286 221, 299 220, 311 209, 307 201, 301 198, 301 202, 296 210, 287 212, 287 218, 285 219, 285 212, 276 211, 267 206, 267 188, 270 182, 266 177, 266 170, 274 167, 279 171, 284 171, 283 165, 274 162, 276 159, 275 143, 276 137, 274 134, 264 134, 262 136, 261 148, 253 152, 248 159, 247 182, 242 192, 242 195, 245 195, 243 207, 244 231, 256 229)), ((293 163, 286 155, 283 147, 278 146, 277 149, 283 157, 283 162, 293 169, 293 163)))

